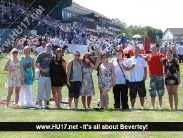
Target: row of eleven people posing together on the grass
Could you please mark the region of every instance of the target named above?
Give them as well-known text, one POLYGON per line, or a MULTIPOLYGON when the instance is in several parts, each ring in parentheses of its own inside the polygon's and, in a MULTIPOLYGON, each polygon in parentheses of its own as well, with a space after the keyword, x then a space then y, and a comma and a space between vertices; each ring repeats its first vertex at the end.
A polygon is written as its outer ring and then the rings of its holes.
MULTIPOLYGON (((63 58, 61 48, 51 53, 52 44, 47 43, 45 51, 38 53, 36 60, 30 56, 30 48, 25 46, 23 56, 18 59, 18 50, 11 51, 11 58, 7 60, 4 70, 8 71, 6 86, 8 95, 6 106, 15 88, 15 104, 20 107, 31 107, 32 104, 32 84, 35 80, 35 66, 40 70, 38 78, 38 109, 48 107, 51 90, 55 101, 55 108, 60 109, 62 101, 62 87, 68 87, 68 109, 71 108, 72 100, 74 106, 78 108, 79 96, 83 108, 90 109, 92 96, 95 95, 92 71, 97 70, 98 87, 100 91, 100 108, 108 109, 108 92, 111 87, 114 94, 114 108, 129 109, 128 89, 131 101, 131 110, 135 109, 137 93, 140 97, 141 109, 144 110, 144 97, 146 96, 145 81, 148 73, 150 76, 149 93, 151 96, 151 109, 155 108, 155 97, 158 95, 159 109, 162 109, 162 97, 164 95, 164 82, 168 90, 170 109, 178 109, 177 88, 180 84, 179 64, 170 49, 163 55, 158 52, 156 45, 151 45, 151 53, 147 55, 139 54, 140 48, 134 46, 134 56, 127 59, 123 54, 123 49, 117 46, 116 57, 110 62, 105 52, 96 56, 94 51, 89 51, 80 59, 80 52, 73 53, 73 59, 68 63, 63 58), (163 72, 164 66, 164 72, 163 72), (128 73, 130 72, 130 79, 128 73), (163 77, 165 73, 165 81, 163 77), (130 81, 130 82, 129 82, 130 81), (26 94, 25 94, 26 92, 26 94), (157 92, 157 94, 156 94, 157 92), (26 98, 24 98, 26 97, 26 98)), ((97 87, 97 86, 95 86, 97 87)))

